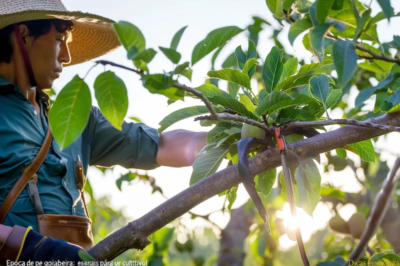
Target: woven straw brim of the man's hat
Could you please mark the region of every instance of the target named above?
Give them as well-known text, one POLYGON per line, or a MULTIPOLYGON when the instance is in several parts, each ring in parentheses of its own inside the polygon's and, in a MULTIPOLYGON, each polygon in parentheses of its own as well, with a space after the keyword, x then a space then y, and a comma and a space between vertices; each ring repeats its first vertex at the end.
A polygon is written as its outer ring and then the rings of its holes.
POLYGON ((1 15, 0 29, 14 23, 36 19, 66 19, 73 22, 72 41, 68 44, 74 65, 106 54, 120 46, 111 19, 80 11, 28 10, 1 15))

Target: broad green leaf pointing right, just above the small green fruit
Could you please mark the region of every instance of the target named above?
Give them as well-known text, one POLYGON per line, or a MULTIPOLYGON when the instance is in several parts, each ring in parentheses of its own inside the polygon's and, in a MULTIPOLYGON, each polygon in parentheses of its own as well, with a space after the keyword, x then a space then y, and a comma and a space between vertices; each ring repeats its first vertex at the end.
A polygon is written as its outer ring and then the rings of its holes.
POLYGON ((254 110, 256 116, 262 115, 264 112, 271 114, 282 108, 304 104, 315 104, 315 100, 307 95, 296 93, 295 97, 291 97, 283 91, 272 91, 265 99, 263 99, 254 110))

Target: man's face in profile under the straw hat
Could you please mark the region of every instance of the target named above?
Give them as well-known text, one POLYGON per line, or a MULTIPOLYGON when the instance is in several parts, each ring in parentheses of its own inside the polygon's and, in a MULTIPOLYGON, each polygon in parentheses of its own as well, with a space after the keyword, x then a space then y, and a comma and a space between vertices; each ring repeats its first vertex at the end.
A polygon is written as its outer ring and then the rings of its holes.
POLYGON ((36 85, 40 89, 51 88, 54 80, 59 77, 62 65, 70 62, 68 42, 71 32, 58 32, 54 26, 48 34, 37 38, 25 36, 26 50, 32 65, 36 85))

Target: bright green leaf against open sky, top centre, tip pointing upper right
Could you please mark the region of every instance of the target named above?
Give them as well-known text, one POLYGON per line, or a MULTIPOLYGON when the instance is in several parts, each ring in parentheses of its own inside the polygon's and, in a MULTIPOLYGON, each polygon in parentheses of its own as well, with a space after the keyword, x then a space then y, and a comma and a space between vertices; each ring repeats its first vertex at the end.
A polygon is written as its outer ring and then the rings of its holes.
POLYGON ((212 30, 207 36, 194 46, 191 54, 191 65, 209 54, 213 49, 221 46, 233 36, 242 32, 243 29, 236 26, 221 27, 212 30))

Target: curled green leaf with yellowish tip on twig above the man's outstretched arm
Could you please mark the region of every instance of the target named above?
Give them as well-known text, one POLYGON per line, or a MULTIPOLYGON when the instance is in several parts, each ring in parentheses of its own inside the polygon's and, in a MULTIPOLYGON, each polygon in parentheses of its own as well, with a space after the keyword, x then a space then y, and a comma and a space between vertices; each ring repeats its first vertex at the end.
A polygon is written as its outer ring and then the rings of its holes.
POLYGON ((173 87, 175 81, 171 76, 163 74, 142 75, 143 87, 150 93, 165 95, 170 99, 183 100, 184 90, 173 87))

